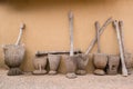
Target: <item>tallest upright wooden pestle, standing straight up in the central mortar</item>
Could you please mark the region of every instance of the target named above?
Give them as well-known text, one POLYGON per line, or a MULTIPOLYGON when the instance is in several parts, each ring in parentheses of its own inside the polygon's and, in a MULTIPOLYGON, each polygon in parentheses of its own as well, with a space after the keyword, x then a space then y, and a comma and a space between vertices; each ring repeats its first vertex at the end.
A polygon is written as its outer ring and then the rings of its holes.
POLYGON ((69 22, 70 22, 70 56, 73 56, 73 13, 69 12, 69 22))

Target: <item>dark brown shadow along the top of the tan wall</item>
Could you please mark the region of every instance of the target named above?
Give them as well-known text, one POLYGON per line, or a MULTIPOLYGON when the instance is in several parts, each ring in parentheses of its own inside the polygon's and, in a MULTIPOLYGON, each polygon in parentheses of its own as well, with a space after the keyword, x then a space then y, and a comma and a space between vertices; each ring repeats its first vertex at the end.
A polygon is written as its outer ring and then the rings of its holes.
POLYGON ((0 4, 7 4, 9 8, 25 11, 33 10, 40 8, 49 8, 49 7, 60 7, 60 6, 69 6, 70 8, 73 6, 84 7, 84 6, 101 6, 108 4, 113 6, 119 0, 0 0, 0 4))

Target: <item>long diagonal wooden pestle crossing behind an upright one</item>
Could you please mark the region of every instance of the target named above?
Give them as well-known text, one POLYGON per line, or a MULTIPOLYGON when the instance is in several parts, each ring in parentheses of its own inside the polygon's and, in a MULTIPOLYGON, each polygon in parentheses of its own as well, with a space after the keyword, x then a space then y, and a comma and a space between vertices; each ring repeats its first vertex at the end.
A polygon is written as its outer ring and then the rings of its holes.
MULTIPOLYGON (((112 21, 113 21, 113 19, 112 19, 112 18, 109 18, 109 19, 104 22, 104 24, 103 24, 103 26, 100 28, 100 30, 99 30, 99 31, 100 31, 100 36, 103 33, 104 29, 105 29, 112 21)), ((94 47, 95 42, 96 42, 96 37, 91 41, 91 43, 90 43, 90 46, 89 46, 85 55, 90 53, 90 51, 91 51, 92 48, 94 47)))

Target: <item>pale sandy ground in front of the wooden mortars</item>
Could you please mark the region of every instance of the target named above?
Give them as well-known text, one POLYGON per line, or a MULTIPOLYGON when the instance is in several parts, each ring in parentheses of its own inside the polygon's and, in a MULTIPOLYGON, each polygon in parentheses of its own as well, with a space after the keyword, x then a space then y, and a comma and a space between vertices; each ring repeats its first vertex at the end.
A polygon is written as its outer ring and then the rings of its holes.
POLYGON ((7 76, 0 70, 0 89, 133 89, 133 75, 117 76, 78 76, 68 79, 64 75, 57 76, 7 76))

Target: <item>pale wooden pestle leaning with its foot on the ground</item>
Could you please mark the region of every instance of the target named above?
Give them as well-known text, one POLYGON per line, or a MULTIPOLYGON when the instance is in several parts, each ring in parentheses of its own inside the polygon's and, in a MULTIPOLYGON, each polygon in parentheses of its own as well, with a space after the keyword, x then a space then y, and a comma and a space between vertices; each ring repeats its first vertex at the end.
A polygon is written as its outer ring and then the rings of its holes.
POLYGON ((113 22, 114 28, 116 30, 116 36, 117 36, 117 41, 119 41, 119 48, 120 48, 120 57, 121 57, 121 63, 122 63, 122 75, 124 77, 127 76, 127 69, 125 66, 125 61, 124 61, 124 53, 123 53, 123 48, 122 48, 122 40, 121 40, 121 34, 120 34, 120 28, 119 28, 119 22, 115 20, 113 22))

